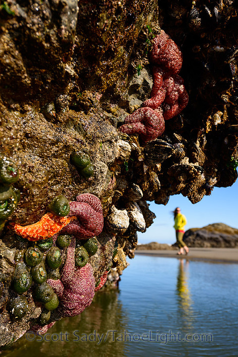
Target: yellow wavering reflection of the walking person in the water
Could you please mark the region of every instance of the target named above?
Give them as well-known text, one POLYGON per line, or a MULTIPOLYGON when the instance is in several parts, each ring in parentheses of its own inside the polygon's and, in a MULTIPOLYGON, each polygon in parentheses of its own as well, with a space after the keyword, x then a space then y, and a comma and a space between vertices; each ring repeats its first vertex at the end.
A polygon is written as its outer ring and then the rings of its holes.
POLYGON ((189 261, 179 259, 179 271, 177 276, 177 295, 179 304, 179 313, 181 316, 182 327, 190 329, 192 327, 193 309, 191 305, 193 301, 188 289, 187 273, 189 268, 189 261))

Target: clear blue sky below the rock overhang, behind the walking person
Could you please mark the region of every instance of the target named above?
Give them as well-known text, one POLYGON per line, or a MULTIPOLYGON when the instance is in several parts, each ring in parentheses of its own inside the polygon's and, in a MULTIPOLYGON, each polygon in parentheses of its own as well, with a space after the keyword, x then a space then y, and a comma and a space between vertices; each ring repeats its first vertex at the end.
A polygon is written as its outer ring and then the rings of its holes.
POLYGON ((176 238, 171 211, 176 207, 180 207, 181 213, 186 216, 185 230, 219 222, 238 228, 238 180, 231 187, 214 187, 210 196, 204 196, 195 204, 181 194, 171 196, 166 206, 148 203, 156 219, 145 233, 138 233, 139 243, 174 243, 176 238))

